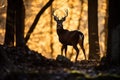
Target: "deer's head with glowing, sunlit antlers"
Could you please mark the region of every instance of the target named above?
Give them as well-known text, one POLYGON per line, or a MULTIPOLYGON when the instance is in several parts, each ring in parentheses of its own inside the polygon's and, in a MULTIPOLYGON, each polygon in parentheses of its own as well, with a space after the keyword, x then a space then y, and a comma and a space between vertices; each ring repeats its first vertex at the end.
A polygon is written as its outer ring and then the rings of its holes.
POLYGON ((54 12, 55 11, 53 11, 52 15, 54 16, 54 20, 57 22, 57 29, 62 29, 63 22, 66 20, 66 17, 68 16, 68 10, 65 10, 66 15, 62 17, 61 19, 59 19, 56 15, 54 15, 54 12))

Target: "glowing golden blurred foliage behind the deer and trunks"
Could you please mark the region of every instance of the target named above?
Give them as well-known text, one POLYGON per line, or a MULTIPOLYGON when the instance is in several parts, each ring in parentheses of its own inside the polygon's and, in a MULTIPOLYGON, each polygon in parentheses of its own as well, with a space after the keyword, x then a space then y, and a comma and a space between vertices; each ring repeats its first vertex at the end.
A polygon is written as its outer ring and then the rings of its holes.
MULTIPOLYGON (((49 0, 24 0, 26 9, 25 18, 25 35, 31 27, 37 13, 49 0)), ((99 41, 100 54, 105 55, 105 18, 106 18, 106 0, 98 0, 98 17, 99 17, 99 41)), ((5 33, 7 1, 0 1, 0 44, 3 44, 5 33), (4 2, 3 2, 4 1, 4 2), (4 5, 4 6, 3 6, 4 5)), ((87 21, 87 0, 54 0, 50 8, 40 17, 36 28, 34 29, 27 45, 30 49, 42 53, 48 58, 56 58, 60 54, 61 44, 58 41, 56 34, 56 22, 51 16, 52 10, 59 18, 65 16, 65 10, 68 9, 68 17, 64 22, 64 28, 69 30, 78 29, 85 35, 84 47, 86 54, 89 52, 88 44, 88 21, 87 21), (52 33, 51 33, 52 32, 52 33)), ((76 54, 72 47, 68 47, 68 58, 74 60, 76 54)), ((79 60, 84 59, 82 51, 79 55, 79 60)))

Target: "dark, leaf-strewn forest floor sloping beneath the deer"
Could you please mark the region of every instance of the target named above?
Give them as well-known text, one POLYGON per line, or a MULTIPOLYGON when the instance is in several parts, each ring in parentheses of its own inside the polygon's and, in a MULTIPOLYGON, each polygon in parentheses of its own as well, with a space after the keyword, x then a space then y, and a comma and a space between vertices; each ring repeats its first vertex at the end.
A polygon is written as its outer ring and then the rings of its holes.
POLYGON ((119 80, 120 66, 99 61, 71 62, 64 56, 47 59, 40 53, 0 45, 0 80, 119 80))

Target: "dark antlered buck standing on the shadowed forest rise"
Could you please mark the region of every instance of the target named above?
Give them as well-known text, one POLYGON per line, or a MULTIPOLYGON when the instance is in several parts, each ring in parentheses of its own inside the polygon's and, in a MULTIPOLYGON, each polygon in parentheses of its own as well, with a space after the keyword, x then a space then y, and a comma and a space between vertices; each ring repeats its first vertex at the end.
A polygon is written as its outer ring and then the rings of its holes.
POLYGON ((62 44, 61 55, 63 56, 63 50, 64 50, 66 57, 67 46, 68 45, 73 46, 73 49, 75 49, 77 53, 75 57, 75 62, 77 62, 77 58, 79 55, 79 49, 77 47, 77 44, 79 44, 86 60, 85 49, 84 49, 84 34, 78 30, 69 31, 63 28, 63 22, 66 20, 66 17, 68 16, 68 10, 65 10, 66 15, 61 19, 59 19, 56 15, 54 15, 54 12, 55 11, 52 12, 52 15, 57 23, 56 32, 59 38, 59 42, 62 44))

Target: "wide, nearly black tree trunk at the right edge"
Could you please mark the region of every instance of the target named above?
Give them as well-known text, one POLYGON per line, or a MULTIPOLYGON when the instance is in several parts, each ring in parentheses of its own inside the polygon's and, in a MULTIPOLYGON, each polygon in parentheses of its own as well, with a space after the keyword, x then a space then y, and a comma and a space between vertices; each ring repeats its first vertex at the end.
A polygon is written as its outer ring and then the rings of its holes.
POLYGON ((107 63, 119 64, 120 0, 109 0, 107 63))

